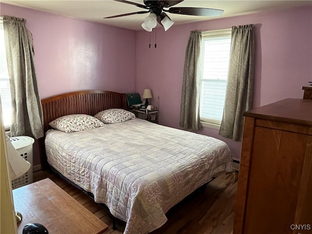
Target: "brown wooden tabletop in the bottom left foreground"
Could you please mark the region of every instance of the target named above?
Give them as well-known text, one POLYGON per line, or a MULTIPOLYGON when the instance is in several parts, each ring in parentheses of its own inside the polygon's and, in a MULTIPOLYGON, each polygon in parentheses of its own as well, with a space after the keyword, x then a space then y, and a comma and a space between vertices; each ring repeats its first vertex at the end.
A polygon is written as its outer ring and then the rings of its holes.
POLYGON ((15 210, 22 214, 18 233, 40 223, 50 234, 101 234, 108 226, 49 178, 13 190, 15 210))

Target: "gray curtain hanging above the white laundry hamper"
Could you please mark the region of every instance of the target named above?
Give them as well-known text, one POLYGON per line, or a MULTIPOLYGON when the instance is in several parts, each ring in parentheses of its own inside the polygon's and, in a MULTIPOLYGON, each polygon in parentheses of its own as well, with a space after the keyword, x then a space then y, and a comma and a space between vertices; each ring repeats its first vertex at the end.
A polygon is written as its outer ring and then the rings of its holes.
POLYGON ((43 137, 43 117, 34 64, 33 42, 26 20, 3 17, 12 96, 11 137, 43 137))

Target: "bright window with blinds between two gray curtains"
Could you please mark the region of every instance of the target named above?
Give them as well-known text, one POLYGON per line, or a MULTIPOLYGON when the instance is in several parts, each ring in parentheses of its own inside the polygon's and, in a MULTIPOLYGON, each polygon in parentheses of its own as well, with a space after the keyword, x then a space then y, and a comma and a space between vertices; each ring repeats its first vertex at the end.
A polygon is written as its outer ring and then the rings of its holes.
POLYGON ((231 28, 202 33, 200 120, 216 128, 221 124, 223 115, 230 61, 231 34, 231 28))

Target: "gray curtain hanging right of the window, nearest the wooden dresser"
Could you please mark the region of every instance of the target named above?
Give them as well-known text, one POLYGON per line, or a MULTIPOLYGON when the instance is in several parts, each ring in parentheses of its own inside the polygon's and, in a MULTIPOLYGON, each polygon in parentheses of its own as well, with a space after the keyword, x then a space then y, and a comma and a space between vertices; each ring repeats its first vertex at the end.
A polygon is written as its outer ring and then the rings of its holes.
POLYGON ((219 135, 241 140, 244 118, 254 94, 253 24, 232 27, 231 55, 223 118, 219 135))

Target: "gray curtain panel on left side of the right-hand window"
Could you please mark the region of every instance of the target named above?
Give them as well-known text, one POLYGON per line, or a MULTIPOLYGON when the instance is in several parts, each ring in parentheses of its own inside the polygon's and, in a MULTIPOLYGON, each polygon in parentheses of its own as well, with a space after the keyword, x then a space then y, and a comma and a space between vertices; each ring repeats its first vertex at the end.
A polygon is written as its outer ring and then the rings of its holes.
POLYGON ((201 32, 191 31, 186 47, 182 96, 180 106, 180 126, 186 129, 200 129, 199 78, 200 78, 201 32))

